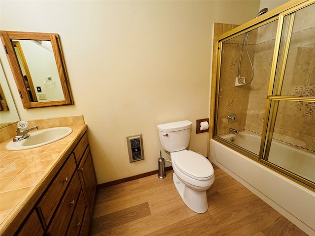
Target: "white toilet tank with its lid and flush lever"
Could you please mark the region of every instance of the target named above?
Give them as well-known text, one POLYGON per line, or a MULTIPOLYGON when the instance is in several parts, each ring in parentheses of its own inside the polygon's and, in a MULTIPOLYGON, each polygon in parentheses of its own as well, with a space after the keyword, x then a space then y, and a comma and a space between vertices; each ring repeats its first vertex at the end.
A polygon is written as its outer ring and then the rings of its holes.
POLYGON ((162 148, 168 152, 184 150, 189 145, 189 120, 158 124, 158 135, 162 148))

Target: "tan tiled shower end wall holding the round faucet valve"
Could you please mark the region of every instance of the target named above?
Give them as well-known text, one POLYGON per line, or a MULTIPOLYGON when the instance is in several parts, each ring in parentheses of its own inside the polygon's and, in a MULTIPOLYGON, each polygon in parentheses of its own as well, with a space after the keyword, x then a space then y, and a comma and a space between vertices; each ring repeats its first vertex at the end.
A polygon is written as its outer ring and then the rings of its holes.
MULTIPOLYGON (((217 134, 228 133, 229 128, 245 130, 250 86, 235 86, 244 36, 232 38, 224 42, 222 46, 217 134), (234 123, 228 123, 227 117, 232 113, 236 114, 237 118, 234 123)), ((252 46, 252 42, 255 37, 255 32, 250 33, 248 37, 248 51, 250 55, 254 55, 255 48, 252 46)), ((240 75, 248 79, 251 77, 252 70, 247 59, 245 47, 243 48, 241 61, 240 75)))

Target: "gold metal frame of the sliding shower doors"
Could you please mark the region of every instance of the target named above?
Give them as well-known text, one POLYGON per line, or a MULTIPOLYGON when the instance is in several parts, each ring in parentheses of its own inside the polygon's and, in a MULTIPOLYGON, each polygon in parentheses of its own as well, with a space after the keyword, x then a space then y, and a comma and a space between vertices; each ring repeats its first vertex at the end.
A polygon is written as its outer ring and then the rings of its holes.
POLYGON ((300 0, 300 1, 294 1, 294 2, 293 1, 287 2, 284 5, 279 6, 271 10, 270 12, 267 12, 264 15, 260 16, 259 19, 255 18, 218 37, 217 39, 218 50, 217 50, 217 55, 216 55, 217 56, 216 95, 215 95, 215 110, 214 110, 214 119, 213 119, 214 126, 213 126, 213 134, 210 136, 210 138, 213 138, 219 141, 220 143, 228 146, 229 148, 232 148, 242 154, 245 154, 246 156, 252 158, 254 161, 257 161, 258 163, 263 164, 267 166, 268 168, 271 168, 272 170, 277 171, 278 173, 284 175, 285 177, 289 177, 293 181, 314 190, 315 189, 314 182, 306 178, 300 177, 298 175, 295 175, 271 162, 268 162, 268 155, 269 155, 269 151, 270 151, 270 147, 272 143, 272 137, 273 137, 273 131, 274 131, 275 122, 276 122, 276 115, 278 111, 279 101, 315 102, 314 97, 281 96, 281 89, 282 89, 283 79, 284 79, 284 69, 286 66, 286 59, 288 55, 288 49, 289 49, 290 40, 291 40, 291 32, 292 32, 294 16, 295 16, 294 12, 308 5, 311 5, 313 3, 315 3, 315 0, 300 0), (286 37, 285 37, 284 51, 283 51, 284 55, 281 60, 280 74, 278 76, 279 81, 278 81, 277 87, 274 87, 276 69, 277 69, 277 64, 278 64, 280 42, 281 42, 281 36, 282 36, 283 27, 284 27, 284 17, 288 15, 290 15, 290 19, 289 19, 289 24, 286 28, 287 30, 286 30, 286 37), (278 28, 277 28, 277 34, 276 34, 276 40, 275 40, 275 46, 274 46, 274 54, 273 54, 273 61, 272 61, 272 66, 271 66, 270 79, 269 79, 268 94, 266 98, 265 118, 264 118, 264 124, 262 128, 260 151, 259 151, 259 155, 257 155, 244 148, 236 146, 216 135, 216 127, 218 125, 217 119, 218 119, 218 113, 219 113, 222 45, 223 45, 223 42, 231 38, 234 38, 243 33, 249 32, 252 29, 257 29, 265 24, 268 24, 276 20, 278 20, 278 28), (275 105, 272 105, 272 103, 275 103, 275 105))

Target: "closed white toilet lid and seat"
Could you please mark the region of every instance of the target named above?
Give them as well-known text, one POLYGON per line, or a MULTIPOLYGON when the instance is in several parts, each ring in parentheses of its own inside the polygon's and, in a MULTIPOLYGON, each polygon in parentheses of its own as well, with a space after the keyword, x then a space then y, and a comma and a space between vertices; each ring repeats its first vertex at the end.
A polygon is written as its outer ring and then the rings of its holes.
POLYGON ((173 164, 183 174, 197 180, 208 180, 213 177, 213 167, 204 156, 186 149, 172 154, 173 164))

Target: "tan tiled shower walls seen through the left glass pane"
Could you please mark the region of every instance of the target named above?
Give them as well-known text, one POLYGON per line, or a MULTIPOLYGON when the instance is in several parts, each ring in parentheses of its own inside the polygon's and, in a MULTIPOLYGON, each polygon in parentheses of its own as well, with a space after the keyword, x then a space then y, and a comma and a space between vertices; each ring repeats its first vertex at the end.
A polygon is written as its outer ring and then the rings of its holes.
MULTIPOLYGON (((249 85, 235 86, 244 34, 223 44, 217 134, 229 133, 229 128, 262 133, 276 32, 277 22, 272 22, 249 33, 248 51, 254 68, 249 85), (237 116, 232 124, 227 121, 231 113, 237 116)), ((252 68, 245 47, 240 68, 240 76, 248 83, 252 68)))

